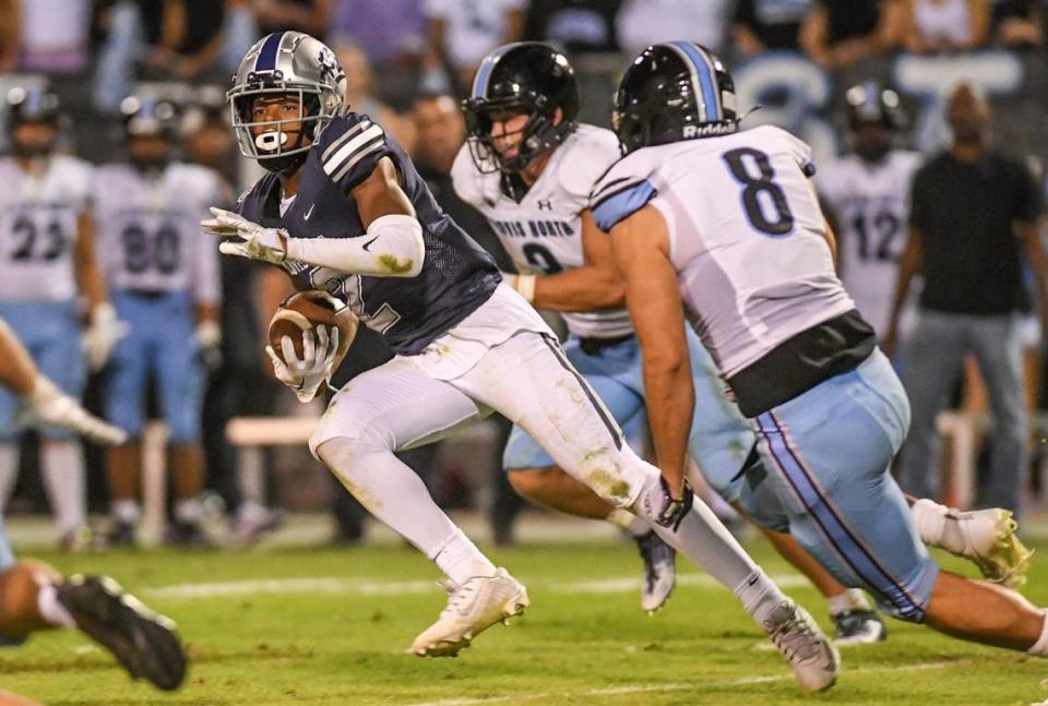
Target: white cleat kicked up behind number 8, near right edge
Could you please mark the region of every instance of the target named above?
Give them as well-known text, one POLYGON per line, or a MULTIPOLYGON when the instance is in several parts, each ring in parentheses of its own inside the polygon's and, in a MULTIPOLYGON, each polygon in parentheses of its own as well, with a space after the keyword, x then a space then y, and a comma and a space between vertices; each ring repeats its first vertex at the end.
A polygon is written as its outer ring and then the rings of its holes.
POLYGON ((1026 570, 1034 552, 1015 536, 1019 523, 1012 517, 1012 511, 951 510, 948 516, 956 519, 964 535, 961 555, 972 560, 985 578, 1009 588, 1026 583, 1026 570))

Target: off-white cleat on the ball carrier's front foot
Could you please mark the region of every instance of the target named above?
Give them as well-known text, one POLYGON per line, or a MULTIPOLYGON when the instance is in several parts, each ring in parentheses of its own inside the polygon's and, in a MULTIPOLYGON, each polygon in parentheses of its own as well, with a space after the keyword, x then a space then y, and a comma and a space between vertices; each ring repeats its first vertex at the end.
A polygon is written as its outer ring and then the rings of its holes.
POLYGON ((504 569, 493 576, 474 576, 450 589, 448 607, 412 645, 419 657, 455 657, 481 632, 531 605, 527 589, 504 569))

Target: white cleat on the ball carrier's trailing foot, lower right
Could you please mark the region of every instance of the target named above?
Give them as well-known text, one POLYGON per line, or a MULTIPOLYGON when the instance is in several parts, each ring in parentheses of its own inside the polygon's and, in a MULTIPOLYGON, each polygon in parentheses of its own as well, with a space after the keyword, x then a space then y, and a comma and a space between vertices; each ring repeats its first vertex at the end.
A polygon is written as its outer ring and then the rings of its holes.
POLYGON ((837 681, 841 656, 819 625, 791 600, 779 603, 764 621, 764 632, 808 691, 830 689, 837 681))

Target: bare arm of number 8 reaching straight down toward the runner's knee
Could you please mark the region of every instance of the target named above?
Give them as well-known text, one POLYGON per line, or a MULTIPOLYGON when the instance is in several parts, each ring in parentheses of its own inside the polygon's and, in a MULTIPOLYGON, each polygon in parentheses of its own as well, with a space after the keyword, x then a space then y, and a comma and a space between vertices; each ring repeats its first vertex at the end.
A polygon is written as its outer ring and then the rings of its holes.
POLYGON ((654 206, 644 206, 612 226, 611 249, 626 279, 626 301, 641 343, 658 467, 670 496, 680 499, 695 393, 666 220, 654 206))

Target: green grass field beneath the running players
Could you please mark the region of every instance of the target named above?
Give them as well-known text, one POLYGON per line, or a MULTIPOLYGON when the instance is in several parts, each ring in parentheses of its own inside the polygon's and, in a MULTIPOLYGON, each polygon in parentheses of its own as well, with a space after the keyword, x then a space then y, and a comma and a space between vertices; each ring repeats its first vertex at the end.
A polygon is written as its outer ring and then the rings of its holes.
MULTIPOLYGON (((825 626, 815 593, 763 543, 750 547, 825 626)), ((1048 698, 1040 684, 1048 662, 896 621, 888 642, 844 651, 835 689, 802 694, 734 598, 690 565, 669 606, 645 617, 640 562, 626 543, 492 552, 528 585, 532 608, 454 660, 405 654, 444 601, 436 570, 400 547, 36 555, 67 572, 118 577, 178 621, 192 659, 184 687, 168 695, 130 682, 75 633, 37 635, 0 651, 0 685, 47 704, 931 706, 1048 698)), ((1048 603, 1048 564, 1035 559, 1031 586, 1028 597, 1048 603)))

